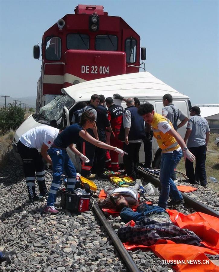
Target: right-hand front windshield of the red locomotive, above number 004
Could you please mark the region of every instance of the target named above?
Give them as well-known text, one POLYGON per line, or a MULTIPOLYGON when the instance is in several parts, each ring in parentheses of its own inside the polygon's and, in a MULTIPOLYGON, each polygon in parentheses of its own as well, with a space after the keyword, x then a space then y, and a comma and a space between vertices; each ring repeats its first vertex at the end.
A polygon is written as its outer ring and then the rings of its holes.
POLYGON ((113 35, 97 35, 95 49, 99 51, 117 51, 118 38, 113 35))

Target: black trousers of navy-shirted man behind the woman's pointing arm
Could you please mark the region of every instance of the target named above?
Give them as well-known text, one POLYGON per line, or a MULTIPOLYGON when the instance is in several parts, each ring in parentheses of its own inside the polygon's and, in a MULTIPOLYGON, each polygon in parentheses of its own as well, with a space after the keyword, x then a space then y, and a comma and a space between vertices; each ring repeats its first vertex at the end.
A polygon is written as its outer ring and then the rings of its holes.
MULTIPOLYGON (((105 131, 98 131, 98 132, 99 132, 98 133, 99 140, 101 142, 106 143, 105 131)), ((96 147, 94 163, 91 169, 92 174, 100 175, 104 172, 105 158, 106 158, 106 149, 96 147)))

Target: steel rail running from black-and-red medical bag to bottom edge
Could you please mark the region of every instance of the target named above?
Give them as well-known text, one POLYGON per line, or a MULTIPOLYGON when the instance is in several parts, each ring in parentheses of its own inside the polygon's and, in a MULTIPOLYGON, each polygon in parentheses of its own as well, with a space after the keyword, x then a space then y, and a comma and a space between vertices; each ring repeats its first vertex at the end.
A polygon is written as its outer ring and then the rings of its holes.
POLYGON ((103 224, 104 228, 109 234, 109 237, 114 243, 114 246, 117 248, 120 256, 122 257, 122 260, 125 262, 128 270, 130 272, 140 272, 139 268, 137 267, 136 263, 132 259, 132 257, 128 254, 128 251, 125 249, 124 245, 118 238, 117 234, 115 233, 114 229, 111 227, 111 224, 108 222, 108 220, 105 218, 105 215, 97 205, 93 201, 93 207, 92 209, 95 211, 96 215, 100 219, 101 223, 103 224))

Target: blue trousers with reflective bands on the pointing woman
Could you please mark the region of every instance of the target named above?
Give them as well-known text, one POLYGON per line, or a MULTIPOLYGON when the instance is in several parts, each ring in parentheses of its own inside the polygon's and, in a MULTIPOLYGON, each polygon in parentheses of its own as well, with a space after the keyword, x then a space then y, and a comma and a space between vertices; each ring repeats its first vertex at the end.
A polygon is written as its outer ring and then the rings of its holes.
POLYGON ((63 181, 63 172, 68 176, 67 189, 73 191, 76 183, 76 169, 70 160, 66 150, 51 147, 47 153, 53 162, 53 181, 51 183, 47 206, 54 206, 56 202, 57 192, 63 181), (57 154, 59 152, 59 155, 57 154))

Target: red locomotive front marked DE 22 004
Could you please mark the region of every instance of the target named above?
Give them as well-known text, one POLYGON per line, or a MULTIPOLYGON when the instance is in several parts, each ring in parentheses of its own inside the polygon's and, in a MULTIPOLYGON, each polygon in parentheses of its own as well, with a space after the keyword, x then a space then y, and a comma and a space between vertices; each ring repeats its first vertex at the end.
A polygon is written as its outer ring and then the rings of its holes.
MULTIPOLYGON (((37 113, 63 87, 83 81, 139 72, 140 37, 103 6, 78 5, 43 34, 37 113)), ((39 59, 39 46, 34 46, 39 59)))

